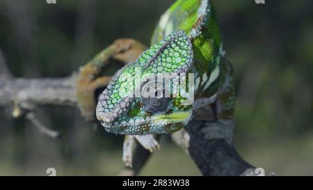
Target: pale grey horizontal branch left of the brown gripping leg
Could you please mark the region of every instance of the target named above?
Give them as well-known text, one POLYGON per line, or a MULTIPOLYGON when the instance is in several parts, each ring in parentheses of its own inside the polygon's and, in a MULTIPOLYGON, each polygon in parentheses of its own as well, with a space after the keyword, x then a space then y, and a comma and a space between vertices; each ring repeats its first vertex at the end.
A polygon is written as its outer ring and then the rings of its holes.
POLYGON ((19 104, 23 109, 53 104, 76 106, 76 74, 56 79, 0 80, 0 106, 19 104))

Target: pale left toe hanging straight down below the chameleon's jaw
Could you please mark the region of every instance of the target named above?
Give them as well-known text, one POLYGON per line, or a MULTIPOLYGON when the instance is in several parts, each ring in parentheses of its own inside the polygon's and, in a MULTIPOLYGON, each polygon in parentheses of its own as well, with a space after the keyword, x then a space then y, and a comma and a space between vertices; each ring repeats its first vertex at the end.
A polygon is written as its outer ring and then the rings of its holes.
POLYGON ((132 167, 133 163, 133 145, 135 138, 132 135, 125 135, 123 143, 123 157, 122 160, 126 166, 132 167))

